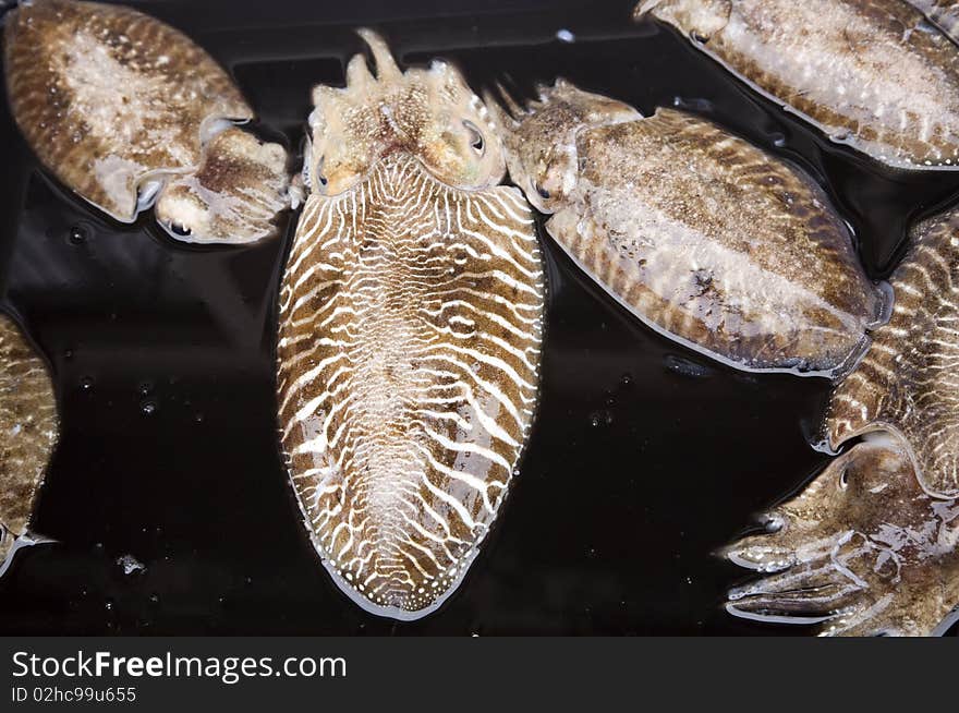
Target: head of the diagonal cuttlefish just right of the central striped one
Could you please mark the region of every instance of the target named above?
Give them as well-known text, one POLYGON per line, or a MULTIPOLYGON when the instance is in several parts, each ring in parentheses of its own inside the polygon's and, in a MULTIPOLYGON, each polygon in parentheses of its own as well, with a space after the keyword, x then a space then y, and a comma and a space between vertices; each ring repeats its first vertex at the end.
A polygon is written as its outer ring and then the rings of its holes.
POLYGON ((520 107, 500 87, 503 106, 486 94, 493 122, 502 140, 512 182, 542 213, 556 213, 576 185, 580 130, 642 119, 622 101, 576 88, 566 80, 542 87, 539 97, 520 107))

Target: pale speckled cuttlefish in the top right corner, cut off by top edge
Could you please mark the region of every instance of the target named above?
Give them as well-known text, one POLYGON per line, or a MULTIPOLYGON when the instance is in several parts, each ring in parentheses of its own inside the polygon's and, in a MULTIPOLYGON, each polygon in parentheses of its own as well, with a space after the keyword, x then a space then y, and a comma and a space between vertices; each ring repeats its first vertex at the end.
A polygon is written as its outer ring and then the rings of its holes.
POLYGON ((959 47, 902 0, 646 0, 831 140, 897 168, 957 166, 959 47))

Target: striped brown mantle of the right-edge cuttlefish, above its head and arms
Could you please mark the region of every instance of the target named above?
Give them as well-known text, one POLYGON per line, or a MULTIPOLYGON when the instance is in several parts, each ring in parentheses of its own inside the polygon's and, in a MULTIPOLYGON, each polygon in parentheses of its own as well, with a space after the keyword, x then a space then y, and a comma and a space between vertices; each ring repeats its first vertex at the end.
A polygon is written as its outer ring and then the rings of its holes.
POLYGON ((959 496, 959 209, 916 225, 890 280, 895 306, 826 415, 833 447, 900 434, 923 487, 959 496))

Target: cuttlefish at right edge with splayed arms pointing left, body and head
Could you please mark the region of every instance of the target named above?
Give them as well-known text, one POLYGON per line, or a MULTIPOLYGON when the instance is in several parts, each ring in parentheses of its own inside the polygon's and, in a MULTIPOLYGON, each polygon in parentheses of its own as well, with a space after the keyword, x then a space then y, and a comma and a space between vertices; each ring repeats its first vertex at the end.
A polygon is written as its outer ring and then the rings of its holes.
POLYGON ((959 605, 959 209, 915 226, 888 324, 834 391, 825 435, 857 438, 730 557, 777 572, 733 613, 825 633, 930 635, 959 605))

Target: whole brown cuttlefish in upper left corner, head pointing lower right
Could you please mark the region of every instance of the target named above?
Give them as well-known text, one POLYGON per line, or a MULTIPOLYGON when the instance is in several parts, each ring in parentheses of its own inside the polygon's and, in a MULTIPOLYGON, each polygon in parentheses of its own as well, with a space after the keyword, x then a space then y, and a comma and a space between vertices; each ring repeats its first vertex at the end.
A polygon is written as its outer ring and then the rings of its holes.
POLYGON ((245 162, 231 162, 236 142, 216 137, 232 122, 253 119, 253 110, 184 34, 122 5, 33 0, 7 16, 3 44, 16 124, 44 166, 77 195, 132 222, 174 177, 181 195, 185 181, 198 196, 168 197, 160 222, 174 238, 245 242, 271 232, 288 185, 286 159, 278 167, 274 155, 284 149, 271 145, 265 161, 247 152, 245 162), (263 172, 268 182, 250 180, 263 172), (234 200, 239 192, 251 207, 234 200), (267 216, 267 203, 279 208, 267 216), (239 215, 231 220, 240 234, 222 234, 224 214, 239 215))

